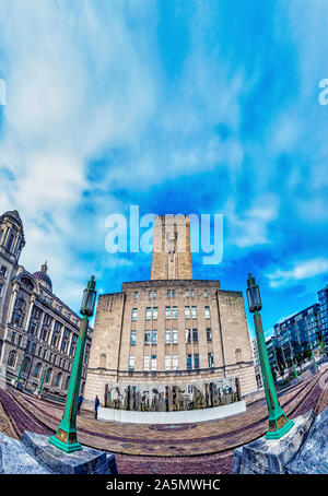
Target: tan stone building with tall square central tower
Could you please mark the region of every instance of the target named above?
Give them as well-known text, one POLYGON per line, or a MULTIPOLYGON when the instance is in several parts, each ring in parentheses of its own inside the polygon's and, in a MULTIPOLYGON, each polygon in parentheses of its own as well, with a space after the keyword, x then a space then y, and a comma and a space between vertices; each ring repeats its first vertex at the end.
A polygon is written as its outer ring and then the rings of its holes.
POLYGON ((257 389, 243 293, 192 280, 189 219, 159 216, 151 280, 98 298, 85 398, 104 402, 115 383, 222 378, 238 378, 242 394, 257 389))

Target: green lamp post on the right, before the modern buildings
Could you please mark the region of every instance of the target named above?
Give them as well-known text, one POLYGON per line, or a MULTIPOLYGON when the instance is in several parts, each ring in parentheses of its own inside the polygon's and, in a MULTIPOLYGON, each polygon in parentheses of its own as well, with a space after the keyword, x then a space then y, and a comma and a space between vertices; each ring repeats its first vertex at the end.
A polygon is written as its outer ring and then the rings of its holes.
POLYGON ((254 323, 256 329, 256 339, 260 357, 263 386, 268 406, 269 429, 266 434, 267 439, 280 439, 294 425, 293 421, 289 420, 280 406, 277 395, 272 371, 270 368, 266 339, 259 311, 262 308, 259 287, 255 282, 255 277, 248 274, 247 280, 247 299, 249 311, 254 314, 254 323))

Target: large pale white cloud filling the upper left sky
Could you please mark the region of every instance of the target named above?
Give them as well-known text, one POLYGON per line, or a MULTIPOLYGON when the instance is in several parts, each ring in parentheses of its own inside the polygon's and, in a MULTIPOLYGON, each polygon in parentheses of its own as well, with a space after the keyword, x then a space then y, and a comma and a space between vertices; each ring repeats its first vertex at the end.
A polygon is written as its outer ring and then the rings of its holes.
POLYGON ((20 211, 26 237, 21 262, 34 271, 47 258, 55 292, 71 304, 93 272, 91 262, 79 263, 79 251, 105 251, 98 232, 98 217, 108 213, 104 204, 91 200, 99 212, 87 226, 79 215, 82 193, 92 189, 89 161, 107 146, 138 142, 156 98, 126 9, 115 2, 1 1, 8 102, 0 213, 20 211))

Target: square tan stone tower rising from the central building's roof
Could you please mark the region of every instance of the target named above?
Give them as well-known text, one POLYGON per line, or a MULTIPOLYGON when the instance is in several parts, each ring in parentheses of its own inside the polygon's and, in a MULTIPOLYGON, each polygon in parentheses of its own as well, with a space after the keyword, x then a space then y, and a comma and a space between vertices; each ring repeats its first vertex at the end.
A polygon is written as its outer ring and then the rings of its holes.
POLYGON ((192 279, 190 221, 187 215, 155 217, 151 280, 172 279, 192 279))

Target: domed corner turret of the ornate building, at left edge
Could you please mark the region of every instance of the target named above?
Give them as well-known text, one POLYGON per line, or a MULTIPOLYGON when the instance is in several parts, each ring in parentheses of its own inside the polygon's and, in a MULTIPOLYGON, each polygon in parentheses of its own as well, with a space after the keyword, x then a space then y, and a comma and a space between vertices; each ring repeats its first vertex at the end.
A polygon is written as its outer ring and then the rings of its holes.
POLYGON ((0 253, 17 264, 24 246, 23 223, 19 212, 5 212, 0 216, 0 253))

